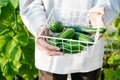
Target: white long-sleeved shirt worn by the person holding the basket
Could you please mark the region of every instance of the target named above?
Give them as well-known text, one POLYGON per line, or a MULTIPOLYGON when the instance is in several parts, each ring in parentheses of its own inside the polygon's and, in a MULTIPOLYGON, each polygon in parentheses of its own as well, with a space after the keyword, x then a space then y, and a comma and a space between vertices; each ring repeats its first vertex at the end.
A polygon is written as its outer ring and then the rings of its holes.
MULTIPOLYGON (((35 36, 37 29, 45 23, 54 7, 89 10, 92 7, 105 7, 104 22, 109 24, 117 16, 120 0, 20 0, 21 18, 28 30, 35 36), (44 5, 43 5, 44 4, 44 5)), ((67 12, 67 11, 66 11, 67 12)), ((57 74, 89 72, 102 66, 104 41, 100 39, 93 52, 75 55, 48 56, 35 47, 35 66, 38 69, 57 74)))

